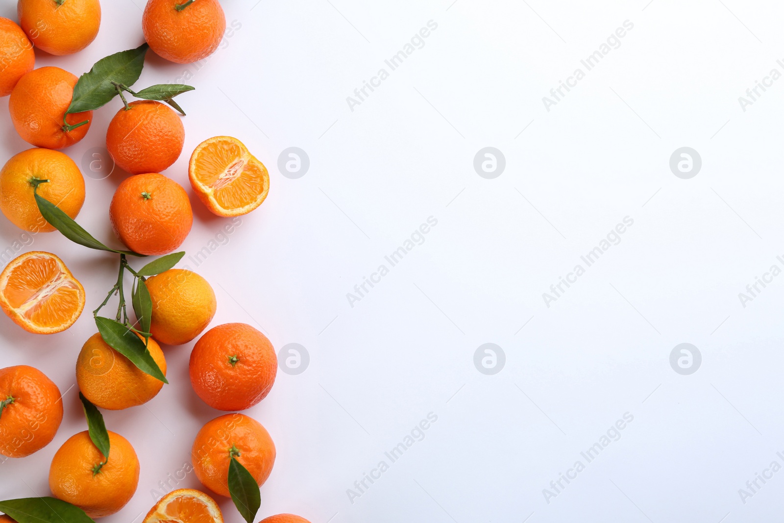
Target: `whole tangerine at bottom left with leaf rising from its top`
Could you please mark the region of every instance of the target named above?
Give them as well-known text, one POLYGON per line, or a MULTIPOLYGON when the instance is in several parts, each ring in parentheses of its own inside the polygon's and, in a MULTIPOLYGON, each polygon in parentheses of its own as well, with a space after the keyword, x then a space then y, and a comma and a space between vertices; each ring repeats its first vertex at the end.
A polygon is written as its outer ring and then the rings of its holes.
POLYGON ((74 434, 55 453, 49 467, 49 489, 57 499, 76 505, 90 518, 118 512, 139 485, 139 458, 129 441, 109 432, 109 460, 93 475, 104 457, 87 430, 74 434))

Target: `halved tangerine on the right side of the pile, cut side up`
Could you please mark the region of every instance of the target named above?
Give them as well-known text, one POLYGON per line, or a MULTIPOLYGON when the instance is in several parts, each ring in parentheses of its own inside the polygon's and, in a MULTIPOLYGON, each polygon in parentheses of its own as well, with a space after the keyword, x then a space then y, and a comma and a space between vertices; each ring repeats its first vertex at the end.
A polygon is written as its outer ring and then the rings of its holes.
POLYGON ((267 168, 231 136, 201 142, 191 155, 188 178, 201 202, 218 216, 248 214, 270 191, 267 168))

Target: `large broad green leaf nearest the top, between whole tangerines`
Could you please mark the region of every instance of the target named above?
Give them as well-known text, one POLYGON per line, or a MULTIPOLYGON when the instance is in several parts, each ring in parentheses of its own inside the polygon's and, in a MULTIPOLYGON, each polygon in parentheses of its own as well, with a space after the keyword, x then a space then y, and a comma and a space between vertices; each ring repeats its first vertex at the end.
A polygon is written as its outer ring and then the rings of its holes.
POLYGON ((144 43, 102 58, 93 65, 89 73, 82 74, 74 87, 74 98, 65 114, 93 111, 108 104, 117 96, 114 83, 130 87, 142 74, 144 56, 149 46, 144 43))

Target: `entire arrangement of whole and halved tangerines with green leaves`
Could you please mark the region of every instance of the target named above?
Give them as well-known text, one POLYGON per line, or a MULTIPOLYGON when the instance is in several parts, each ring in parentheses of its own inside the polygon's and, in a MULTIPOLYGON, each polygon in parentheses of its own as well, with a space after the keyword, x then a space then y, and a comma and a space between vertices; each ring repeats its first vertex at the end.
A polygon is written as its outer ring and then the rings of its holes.
MULTIPOLYGON (((0 96, 9 96, 13 128, 34 147, 0 170, 0 211, 24 231, 59 231, 85 248, 114 253, 118 278, 93 311, 97 332, 75 363, 87 430, 54 454, 52 496, 0 501, 0 523, 84 523, 121 510, 136 493, 140 459, 128 440, 107 430, 100 409, 151 401, 169 383, 161 344, 196 338, 189 368, 194 393, 230 413, 194 434, 193 470, 205 488, 233 499, 245 521, 253 523, 275 445, 256 419, 238 411, 267 396, 278 361, 270 340, 250 325, 227 323, 205 332, 216 311, 215 293, 199 274, 175 268, 185 254, 175 251, 191 231, 193 212, 187 191, 161 172, 183 151, 185 111, 174 98, 194 87, 134 90, 150 49, 180 64, 213 53, 226 30, 223 9, 218 0, 148 0, 142 24, 146 42, 99 60, 81 77, 60 67, 36 69, 34 48, 56 56, 85 49, 100 30, 99 0, 18 0, 17 12, 18 24, 0 18, 0 96), (129 102, 131 96, 138 100, 129 102), (115 98, 122 108, 108 126, 106 147, 115 165, 129 173, 109 205, 111 226, 122 243, 117 249, 75 221, 85 203, 85 181, 60 152, 84 139, 93 111, 115 98), (131 263, 146 256, 160 257, 142 267, 131 263), (130 289, 126 278, 132 280, 130 289), (115 296, 116 314, 100 314, 115 296)), ((263 163, 230 136, 196 147, 188 178, 201 203, 218 216, 251 212, 270 187, 263 163)), ((0 307, 27 332, 62 332, 82 314, 85 289, 56 254, 24 252, 0 273, 0 307)), ((40 370, 0 369, 0 454, 23 458, 49 445, 63 420, 61 400, 58 387, 40 370), (26 437, 31 433, 34 438, 26 437)), ((180 489, 160 499, 143 521, 222 523, 223 515, 205 492, 180 489)), ((278 514, 263 522, 307 520, 278 514)))

